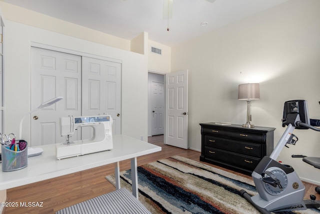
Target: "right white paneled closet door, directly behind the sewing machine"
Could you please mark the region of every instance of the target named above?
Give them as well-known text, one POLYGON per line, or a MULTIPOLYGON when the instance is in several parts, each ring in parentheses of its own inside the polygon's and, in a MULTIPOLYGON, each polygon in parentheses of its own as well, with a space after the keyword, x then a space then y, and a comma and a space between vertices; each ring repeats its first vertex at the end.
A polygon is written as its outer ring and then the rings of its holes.
POLYGON ((82 57, 82 115, 111 115, 112 134, 121 130, 121 64, 82 57))

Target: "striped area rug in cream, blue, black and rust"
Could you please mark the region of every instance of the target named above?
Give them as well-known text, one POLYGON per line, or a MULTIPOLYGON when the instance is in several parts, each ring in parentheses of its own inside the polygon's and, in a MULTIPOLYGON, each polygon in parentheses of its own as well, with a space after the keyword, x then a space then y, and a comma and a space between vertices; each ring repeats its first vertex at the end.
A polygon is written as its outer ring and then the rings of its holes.
MULTIPOLYGON (((120 177, 121 188, 131 191, 130 170, 120 172, 120 177)), ((114 175, 106 179, 115 184, 114 175)), ((151 213, 260 213, 238 194, 240 189, 257 194, 252 179, 180 156, 139 166, 138 189, 140 202, 151 213)))

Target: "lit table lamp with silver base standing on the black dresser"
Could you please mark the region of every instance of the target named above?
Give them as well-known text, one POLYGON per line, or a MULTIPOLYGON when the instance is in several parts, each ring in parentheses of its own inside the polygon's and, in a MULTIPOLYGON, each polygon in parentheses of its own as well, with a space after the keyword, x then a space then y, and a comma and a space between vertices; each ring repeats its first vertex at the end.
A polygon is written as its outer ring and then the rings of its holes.
POLYGON ((238 100, 246 100, 246 123, 242 124, 243 127, 254 127, 251 121, 251 100, 260 99, 260 89, 258 83, 240 84, 238 88, 238 100))

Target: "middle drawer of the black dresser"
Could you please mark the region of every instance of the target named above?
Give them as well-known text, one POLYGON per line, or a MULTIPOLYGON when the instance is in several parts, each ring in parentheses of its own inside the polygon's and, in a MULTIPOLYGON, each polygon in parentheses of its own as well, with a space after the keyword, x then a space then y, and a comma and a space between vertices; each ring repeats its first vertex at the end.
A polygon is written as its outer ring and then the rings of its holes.
POLYGON ((262 157, 261 144, 246 143, 206 135, 204 136, 204 145, 249 156, 262 157))

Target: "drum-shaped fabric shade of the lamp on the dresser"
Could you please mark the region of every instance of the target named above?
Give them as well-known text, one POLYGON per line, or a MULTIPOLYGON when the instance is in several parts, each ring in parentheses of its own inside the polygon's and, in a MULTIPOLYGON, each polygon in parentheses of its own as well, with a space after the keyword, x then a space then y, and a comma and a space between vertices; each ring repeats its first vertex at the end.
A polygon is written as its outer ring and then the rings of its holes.
POLYGON ((238 100, 260 99, 260 87, 258 83, 240 84, 238 88, 238 100))

